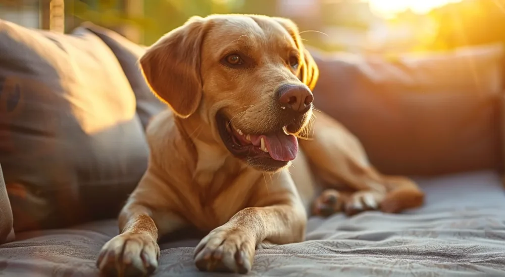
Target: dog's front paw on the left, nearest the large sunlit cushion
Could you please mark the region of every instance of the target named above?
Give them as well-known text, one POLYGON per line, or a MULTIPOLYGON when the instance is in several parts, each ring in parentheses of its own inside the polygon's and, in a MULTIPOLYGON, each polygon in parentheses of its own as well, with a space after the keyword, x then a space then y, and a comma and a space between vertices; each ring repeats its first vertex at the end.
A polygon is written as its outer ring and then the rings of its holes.
POLYGON ((123 233, 107 242, 96 261, 105 276, 145 276, 158 267, 160 247, 149 235, 123 233))

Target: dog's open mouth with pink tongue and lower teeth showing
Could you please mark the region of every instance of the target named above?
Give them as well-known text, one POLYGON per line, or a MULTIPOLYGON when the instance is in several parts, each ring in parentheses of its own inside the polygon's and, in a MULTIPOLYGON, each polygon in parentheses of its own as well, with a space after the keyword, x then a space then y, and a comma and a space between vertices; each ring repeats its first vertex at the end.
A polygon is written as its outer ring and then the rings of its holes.
POLYGON ((235 128, 223 114, 216 116, 219 134, 235 157, 258 160, 269 167, 283 167, 296 158, 298 140, 286 128, 265 134, 247 134, 235 128))

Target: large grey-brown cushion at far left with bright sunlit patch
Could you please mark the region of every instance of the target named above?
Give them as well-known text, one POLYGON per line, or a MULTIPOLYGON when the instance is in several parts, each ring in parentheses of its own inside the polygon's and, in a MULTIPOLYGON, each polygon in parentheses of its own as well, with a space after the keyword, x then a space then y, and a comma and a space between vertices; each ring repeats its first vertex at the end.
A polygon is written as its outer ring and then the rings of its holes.
POLYGON ((0 162, 16 231, 116 217, 148 149, 111 49, 0 21, 0 162))

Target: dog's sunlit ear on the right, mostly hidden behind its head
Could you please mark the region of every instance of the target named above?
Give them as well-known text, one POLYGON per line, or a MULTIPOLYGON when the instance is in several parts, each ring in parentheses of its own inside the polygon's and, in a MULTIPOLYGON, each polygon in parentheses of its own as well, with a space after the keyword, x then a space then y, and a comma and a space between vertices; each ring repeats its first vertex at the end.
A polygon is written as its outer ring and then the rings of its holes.
POLYGON ((298 47, 298 51, 300 51, 300 57, 304 59, 303 62, 300 63, 300 73, 298 78, 301 82, 313 90, 314 87, 316 87, 316 83, 319 78, 319 69, 314 61, 314 58, 312 58, 311 53, 309 53, 304 44, 301 42, 298 27, 289 19, 276 17, 274 20, 282 25, 282 27, 284 27, 284 29, 286 29, 293 38, 296 47, 298 47))

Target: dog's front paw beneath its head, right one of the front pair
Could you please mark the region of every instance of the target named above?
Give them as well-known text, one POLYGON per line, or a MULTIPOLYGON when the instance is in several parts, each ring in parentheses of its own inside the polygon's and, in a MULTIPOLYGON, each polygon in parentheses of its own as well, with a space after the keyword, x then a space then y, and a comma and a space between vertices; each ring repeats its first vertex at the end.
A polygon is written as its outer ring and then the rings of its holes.
POLYGON ((249 272, 256 241, 250 234, 235 228, 219 227, 196 246, 194 259, 201 271, 249 272))

